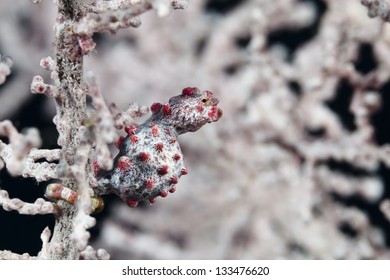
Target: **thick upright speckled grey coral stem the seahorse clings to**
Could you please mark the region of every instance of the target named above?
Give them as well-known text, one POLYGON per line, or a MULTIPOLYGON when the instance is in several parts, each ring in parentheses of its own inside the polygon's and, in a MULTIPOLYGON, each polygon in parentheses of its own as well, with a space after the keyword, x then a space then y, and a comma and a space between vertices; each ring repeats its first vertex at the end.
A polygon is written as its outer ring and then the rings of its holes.
MULTIPOLYGON (((62 166, 73 166, 78 147, 78 131, 86 117, 86 93, 83 89, 83 53, 78 38, 71 32, 73 22, 80 20, 82 13, 78 1, 58 1, 56 25, 56 72, 55 86, 57 115, 54 119, 59 132, 58 144, 61 146, 62 166)), ((80 166, 86 168, 85 166, 80 166)), ((67 168, 65 168, 66 170, 67 168)), ((61 172, 60 172, 61 173, 61 172)), ((62 183, 71 190, 77 185, 73 177, 63 172, 62 183)), ((77 208, 66 202, 59 202, 61 215, 56 216, 52 240, 49 244, 49 259, 78 259, 74 240, 74 220, 77 208)))

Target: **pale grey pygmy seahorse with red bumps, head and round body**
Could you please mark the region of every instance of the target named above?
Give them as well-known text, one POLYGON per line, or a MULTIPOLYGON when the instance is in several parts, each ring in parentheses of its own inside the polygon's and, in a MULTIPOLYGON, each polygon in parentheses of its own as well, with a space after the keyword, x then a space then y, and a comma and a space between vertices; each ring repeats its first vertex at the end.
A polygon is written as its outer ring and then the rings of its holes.
POLYGON ((173 193, 179 178, 187 174, 178 135, 218 121, 222 116, 218 102, 210 91, 185 88, 169 103, 153 104, 152 116, 128 127, 128 136, 119 140, 114 168, 98 174, 96 194, 115 193, 134 207, 141 200, 153 203, 173 193))

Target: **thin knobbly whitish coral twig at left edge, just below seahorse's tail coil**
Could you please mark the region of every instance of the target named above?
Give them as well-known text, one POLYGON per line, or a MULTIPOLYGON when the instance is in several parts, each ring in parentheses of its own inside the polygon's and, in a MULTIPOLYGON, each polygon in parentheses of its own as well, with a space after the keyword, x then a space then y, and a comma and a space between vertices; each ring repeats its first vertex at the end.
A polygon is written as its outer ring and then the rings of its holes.
POLYGON ((0 205, 6 211, 15 210, 23 215, 45 215, 56 212, 53 203, 42 198, 38 198, 34 203, 27 203, 18 198, 10 199, 5 190, 0 190, 0 205))

